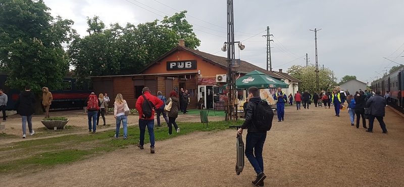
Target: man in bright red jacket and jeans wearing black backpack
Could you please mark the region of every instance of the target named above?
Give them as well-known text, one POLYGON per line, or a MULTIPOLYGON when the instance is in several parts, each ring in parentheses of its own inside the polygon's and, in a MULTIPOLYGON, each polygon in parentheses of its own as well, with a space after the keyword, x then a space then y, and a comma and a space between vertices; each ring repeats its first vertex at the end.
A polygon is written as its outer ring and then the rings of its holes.
POLYGON ((150 136, 150 153, 155 153, 155 132, 153 130, 155 125, 155 110, 163 106, 163 101, 157 98, 156 96, 152 96, 150 94, 150 90, 148 89, 148 87, 144 87, 142 89, 142 93, 143 95, 137 98, 136 102, 136 110, 139 112, 139 129, 140 129, 140 143, 137 144, 137 147, 143 149, 144 133, 146 132, 146 126, 147 126, 148 135, 150 136), (146 97, 146 100, 150 101, 155 106, 152 109, 153 111, 151 113, 150 118, 145 118, 143 115, 142 111, 142 106, 144 102, 143 96, 146 97))

